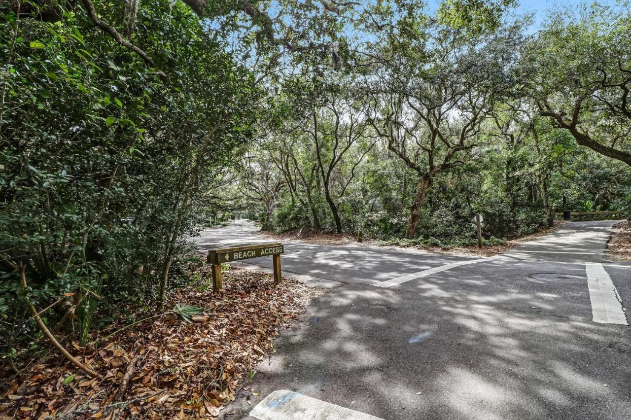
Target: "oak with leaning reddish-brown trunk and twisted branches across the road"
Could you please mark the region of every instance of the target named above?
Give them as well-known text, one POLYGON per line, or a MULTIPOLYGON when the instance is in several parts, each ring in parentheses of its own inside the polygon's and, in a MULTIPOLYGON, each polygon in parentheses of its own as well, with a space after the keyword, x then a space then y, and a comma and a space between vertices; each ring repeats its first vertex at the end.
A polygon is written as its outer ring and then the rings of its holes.
MULTIPOLYGON (((506 83, 505 64, 518 41, 509 33, 472 37, 430 24, 423 37, 390 37, 376 76, 369 120, 387 148, 418 175, 406 237, 416 235, 421 208, 440 172, 461 165, 506 83)), ((370 58, 374 60, 374 58, 370 58)))

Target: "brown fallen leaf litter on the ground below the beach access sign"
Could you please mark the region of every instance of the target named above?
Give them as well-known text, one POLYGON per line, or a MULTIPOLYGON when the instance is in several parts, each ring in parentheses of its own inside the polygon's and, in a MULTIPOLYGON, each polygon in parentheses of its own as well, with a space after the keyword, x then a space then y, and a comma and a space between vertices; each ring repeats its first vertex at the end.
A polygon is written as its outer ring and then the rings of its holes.
MULTIPOLYGON (((224 291, 212 291, 209 279, 204 267, 200 283, 181 289, 167 305, 204 308, 194 322, 163 315, 97 349, 75 346, 71 353, 83 354, 81 361, 102 379, 89 378, 52 350, 10 380, 0 418, 216 418, 237 390, 252 392, 247 378, 273 353, 274 337, 323 292, 288 278, 274 284, 268 274, 238 267, 225 272, 224 291), (123 390, 126 374, 129 387, 123 390)), ((101 336, 124 324, 111 325, 101 336)))

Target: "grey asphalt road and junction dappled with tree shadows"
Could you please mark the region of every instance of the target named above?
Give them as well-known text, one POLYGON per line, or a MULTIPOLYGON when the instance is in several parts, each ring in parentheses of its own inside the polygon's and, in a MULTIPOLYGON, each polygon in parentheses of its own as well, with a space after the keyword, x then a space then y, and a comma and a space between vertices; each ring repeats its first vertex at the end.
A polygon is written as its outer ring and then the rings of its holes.
MULTIPOLYGON (((339 283, 257 368, 260 395, 225 418, 255 418, 278 390, 387 420, 631 418, 631 263, 606 260, 613 223, 487 259, 287 243, 283 271, 339 283)), ((198 243, 266 242, 252 232, 240 222, 198 243)))

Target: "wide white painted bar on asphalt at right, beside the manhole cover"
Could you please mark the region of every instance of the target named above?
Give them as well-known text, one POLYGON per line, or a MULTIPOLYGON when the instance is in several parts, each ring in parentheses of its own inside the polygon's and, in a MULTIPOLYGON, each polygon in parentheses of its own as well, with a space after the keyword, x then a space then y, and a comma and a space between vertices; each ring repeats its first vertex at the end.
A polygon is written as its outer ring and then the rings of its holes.
POLYGON ((594 322, 629 325, 616 286, 599 262, 586 262, 587 287, 594 322))

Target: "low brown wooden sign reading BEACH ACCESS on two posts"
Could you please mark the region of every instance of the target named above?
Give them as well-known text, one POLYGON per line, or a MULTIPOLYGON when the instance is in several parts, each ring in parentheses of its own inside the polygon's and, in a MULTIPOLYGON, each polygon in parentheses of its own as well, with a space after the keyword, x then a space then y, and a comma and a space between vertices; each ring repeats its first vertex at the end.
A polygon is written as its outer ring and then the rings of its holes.
POLYGON ((213 249, 208 252, 208 263, 213 265, 213 289, 221 289, 221 264, 245 260, 249 258, 266 257, 271 255, 274 267, 274 281, 280 282, 280 254, 285 248, 280 242, 262 243, 260 245, 245 245, 242 247, 213 249))

